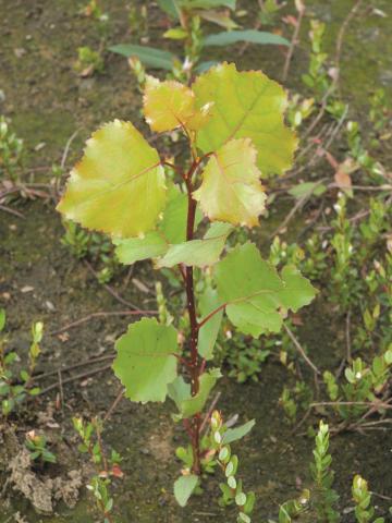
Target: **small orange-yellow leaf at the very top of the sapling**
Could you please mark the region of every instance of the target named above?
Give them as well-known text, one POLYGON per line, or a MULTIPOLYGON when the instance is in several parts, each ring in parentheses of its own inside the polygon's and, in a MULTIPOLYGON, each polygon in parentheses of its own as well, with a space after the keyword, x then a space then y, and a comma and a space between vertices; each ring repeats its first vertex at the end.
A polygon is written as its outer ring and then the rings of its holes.
POLYGON ((144 113, 152 131, 159 133, 185 125, 194 114, 195 95, 180 82, 159 80, 148 76, 144 113))

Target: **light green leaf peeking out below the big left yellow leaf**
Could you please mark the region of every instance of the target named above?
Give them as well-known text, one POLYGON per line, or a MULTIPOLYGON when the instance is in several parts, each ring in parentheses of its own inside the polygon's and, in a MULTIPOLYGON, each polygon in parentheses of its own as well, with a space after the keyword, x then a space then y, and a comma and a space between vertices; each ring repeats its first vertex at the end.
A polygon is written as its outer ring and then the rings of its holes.
POLYGON ((157 258, 168 250, 168 244, 159 232, 148 232, 145 238, 113 240, 113 244, 117 246, 117 257, 124 265, 132 265, 142 259, 157 258))

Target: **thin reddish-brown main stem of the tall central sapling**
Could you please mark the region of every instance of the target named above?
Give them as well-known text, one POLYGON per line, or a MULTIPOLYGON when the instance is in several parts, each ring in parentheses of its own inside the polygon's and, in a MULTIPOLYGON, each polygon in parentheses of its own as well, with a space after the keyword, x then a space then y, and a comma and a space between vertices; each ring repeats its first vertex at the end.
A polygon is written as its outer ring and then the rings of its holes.
MULTIPOLYGON (((195 170, 197 169, 197 167, 198 167, 198 161, 195 160, 185 177, 187 198, 188 198, 186 241, 193 240, 193 236, 194 236, 196 202, 192 197, 192 192, 193 192, 192 177, 195 170)), ((200 377, 201 369, 198 365, 198 352, 197 352, 198 323, 196 317, 193 267, 188 267, 188 266, 185 267, 185 287, 186 287, 186 307, 188 311, 189 324, 191 324, 191 360, 189 360, 191 392, 192 392, 192 396, 196 396, 199 390, 199 377, 200 377)), ((194 455, 192 472, 195 474, 201 473, 200 424, 201 424, 200 413, 197 413, 193 416, 191 422, 191 427, 189 427, 192 449, 193 449, 193 455, 194 455)))

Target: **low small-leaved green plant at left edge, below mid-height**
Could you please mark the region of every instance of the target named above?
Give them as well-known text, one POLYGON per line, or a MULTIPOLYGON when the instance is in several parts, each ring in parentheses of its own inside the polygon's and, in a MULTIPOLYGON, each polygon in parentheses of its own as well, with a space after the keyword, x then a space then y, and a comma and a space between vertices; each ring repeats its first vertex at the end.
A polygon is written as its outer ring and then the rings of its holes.
POLYGON ((1 337, 1 331, 5 327, 5 311, 0 309, 0 398, 1 412, 8 416, 26 397, 37 396, 40 392, 39 387, 33 386, 33 374, 40 354, 40 342, 44 335, 44 324, 37 321, 32 327, 32 344, 28 351, 28 367, 15 374, 14 363, 19 361, 16 352, 7 352, 7 338, 1 337))

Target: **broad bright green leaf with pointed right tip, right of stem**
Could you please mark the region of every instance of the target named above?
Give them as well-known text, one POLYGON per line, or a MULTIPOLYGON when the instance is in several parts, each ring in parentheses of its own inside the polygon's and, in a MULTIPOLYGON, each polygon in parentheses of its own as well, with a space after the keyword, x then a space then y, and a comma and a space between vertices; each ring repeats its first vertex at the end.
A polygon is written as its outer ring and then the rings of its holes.
POLYGON ((253 243, 237 246, 215 266, 218 294, 226 304, 229 319, 255 338, 279 332, 281 309, 295 312, 316 294, 308 280, 292 267, 283 269, 282 278, 253 243))

